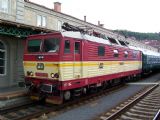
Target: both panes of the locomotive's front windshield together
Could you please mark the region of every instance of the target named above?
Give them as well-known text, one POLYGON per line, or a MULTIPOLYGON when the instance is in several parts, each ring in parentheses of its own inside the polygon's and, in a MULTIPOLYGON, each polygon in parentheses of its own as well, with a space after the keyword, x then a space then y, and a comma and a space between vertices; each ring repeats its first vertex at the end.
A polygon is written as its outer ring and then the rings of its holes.
POLYGON ((48 38, 43 40, 34 39, 28 41, 28 52, 58 52, 60 40, 58 38, 48 38), (41 44, 43 45, 41 48, 41 44))

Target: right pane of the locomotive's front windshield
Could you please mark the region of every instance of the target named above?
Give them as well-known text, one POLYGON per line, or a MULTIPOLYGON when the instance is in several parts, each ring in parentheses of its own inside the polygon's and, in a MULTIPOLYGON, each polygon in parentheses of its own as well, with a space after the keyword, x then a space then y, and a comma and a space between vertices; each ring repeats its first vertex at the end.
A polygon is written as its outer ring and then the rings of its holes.
POLYGON ((43 48, 45 52, 58 52, 59 39, 58 38, 45 39, 43 48))

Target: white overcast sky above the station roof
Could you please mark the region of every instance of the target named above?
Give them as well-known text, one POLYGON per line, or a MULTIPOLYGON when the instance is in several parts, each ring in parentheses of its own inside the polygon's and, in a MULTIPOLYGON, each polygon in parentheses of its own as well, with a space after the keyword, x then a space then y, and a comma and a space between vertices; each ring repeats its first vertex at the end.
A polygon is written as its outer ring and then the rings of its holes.
POLYGON ((160 32, 160 0, 30 0, 53 8, 62 3, 62 12, 107 29, 160 32))

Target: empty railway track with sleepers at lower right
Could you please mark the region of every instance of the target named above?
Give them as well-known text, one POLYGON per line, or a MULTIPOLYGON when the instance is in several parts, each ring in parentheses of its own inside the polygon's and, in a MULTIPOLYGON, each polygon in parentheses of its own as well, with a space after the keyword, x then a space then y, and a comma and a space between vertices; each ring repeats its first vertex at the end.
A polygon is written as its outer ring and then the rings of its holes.
POLYGON ((96 120, 159 120, 160 85, 138 92, 96 120))

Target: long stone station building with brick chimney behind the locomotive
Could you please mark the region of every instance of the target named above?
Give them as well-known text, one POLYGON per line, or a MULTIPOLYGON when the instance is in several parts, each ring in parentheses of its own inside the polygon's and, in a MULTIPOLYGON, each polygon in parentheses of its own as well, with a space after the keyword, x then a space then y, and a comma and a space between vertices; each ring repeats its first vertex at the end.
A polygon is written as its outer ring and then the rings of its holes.
MULTIPOLYGON (((29 0, 0 0, 0 88, 18 85, 24 81, 23 50, 25 38, 31 34, 62 31, 61 26, 68 22, 82 26, 109 37, 126 40, 123 36, 61 12, 61 3, 55 2, 54 9, 35 4, 29 0)), ((136 40, 127 39, 134 46, 146 46, 136 40)))

